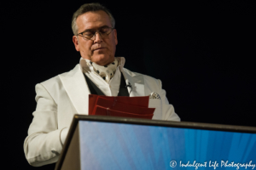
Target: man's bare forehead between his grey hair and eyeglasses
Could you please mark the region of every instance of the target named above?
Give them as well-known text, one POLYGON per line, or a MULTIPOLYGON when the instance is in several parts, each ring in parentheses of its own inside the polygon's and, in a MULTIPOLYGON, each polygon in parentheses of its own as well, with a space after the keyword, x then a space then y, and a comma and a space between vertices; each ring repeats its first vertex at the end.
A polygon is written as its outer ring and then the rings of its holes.
POLYGON ((100 26, 111 26, 111 22, 108 14, 100 10, 79 15, 77 26, 79 29, 93 29, 100 26))

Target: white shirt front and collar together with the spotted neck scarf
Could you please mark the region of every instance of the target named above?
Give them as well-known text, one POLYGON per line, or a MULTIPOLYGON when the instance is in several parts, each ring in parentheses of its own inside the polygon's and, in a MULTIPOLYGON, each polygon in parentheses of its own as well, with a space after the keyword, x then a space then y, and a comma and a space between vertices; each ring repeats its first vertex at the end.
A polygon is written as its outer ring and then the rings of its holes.
POLYGON ((125 65, 125 58, 116 57, 113 63, 114 64, 110 63, 108 67, 104 67, 90 62, 89 59, 80 59, 80 66, 84 74, 89 77, 106 96, 117 96, 119 94, 121 80, 120 66, 125 65), (103 77, 105 77, 105 79, 103 79, 103 77))

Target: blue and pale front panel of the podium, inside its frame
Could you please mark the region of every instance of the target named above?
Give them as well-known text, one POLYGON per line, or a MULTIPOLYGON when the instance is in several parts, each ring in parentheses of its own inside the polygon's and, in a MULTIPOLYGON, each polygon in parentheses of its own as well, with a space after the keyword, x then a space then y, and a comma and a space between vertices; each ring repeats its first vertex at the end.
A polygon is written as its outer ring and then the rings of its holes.
MULTIPOLYGON (((81 169, 254 169, 256 133, 79 121, 81 169)), ((256 168, 255 168, 256 169, 256 168)))

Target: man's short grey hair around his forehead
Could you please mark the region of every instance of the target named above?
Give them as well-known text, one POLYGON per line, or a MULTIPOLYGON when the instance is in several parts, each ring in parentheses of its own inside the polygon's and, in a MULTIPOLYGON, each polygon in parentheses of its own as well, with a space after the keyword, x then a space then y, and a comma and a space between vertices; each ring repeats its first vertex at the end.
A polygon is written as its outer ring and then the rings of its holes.
POLYGON ((114 28, 115 25, 115 21, 113 19, 113 15, 109 12, 108 8, 102 6, 102 4, 100 3, 85 3, 84 5, 82 5, 74 14, 73 14, 73 18, 72 18, 72 30, 73 30, 73 35, 77 36, 78 34, 78 26, 77 26, 77 19, 79 17, 79 15, 90 12, 90 11, 105 11, 109 18, 110 18, 110 22, 111 22, 111 26, 114 28))

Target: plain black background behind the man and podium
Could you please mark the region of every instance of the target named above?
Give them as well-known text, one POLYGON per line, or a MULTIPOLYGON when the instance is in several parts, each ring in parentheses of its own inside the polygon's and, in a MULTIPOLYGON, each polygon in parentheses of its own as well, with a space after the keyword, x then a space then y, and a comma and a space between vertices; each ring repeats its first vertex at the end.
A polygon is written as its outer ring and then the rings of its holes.
MULTIPOLYGON (((159 78, 182 121, 256 127, 255 3, 178 2, 100 2, 116 20, 116 56, 125 57, 125 68, 159 78)), ((31 167, 23 142, 36 108, 35 85, 79 63, 71 19, 83 3, 91 2, 0 5, 1 129, 8 169, 54 168, 31 167)))

